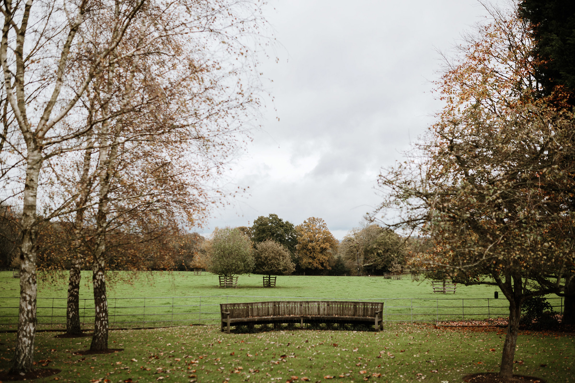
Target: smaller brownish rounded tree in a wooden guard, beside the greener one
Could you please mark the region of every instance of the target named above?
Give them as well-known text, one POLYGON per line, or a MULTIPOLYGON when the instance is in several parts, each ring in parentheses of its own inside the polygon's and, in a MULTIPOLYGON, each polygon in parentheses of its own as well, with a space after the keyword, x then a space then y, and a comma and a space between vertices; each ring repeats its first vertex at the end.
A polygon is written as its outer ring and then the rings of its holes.
POLYGON ((258 274, 286 275, 295 270, 290 252, 270 239, 255 244, 254 261, 254 272, 258 274))

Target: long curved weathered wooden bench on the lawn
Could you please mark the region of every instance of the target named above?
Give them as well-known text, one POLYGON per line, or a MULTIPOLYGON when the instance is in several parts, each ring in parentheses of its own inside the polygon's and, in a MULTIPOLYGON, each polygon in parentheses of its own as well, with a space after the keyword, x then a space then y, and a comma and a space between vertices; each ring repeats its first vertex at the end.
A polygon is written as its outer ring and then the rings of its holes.
POLYGON ((352 323, 382 325, 382 302, 272 301, 222 303, 221 331, 229 334, 232 325, 281 323, 352 323))

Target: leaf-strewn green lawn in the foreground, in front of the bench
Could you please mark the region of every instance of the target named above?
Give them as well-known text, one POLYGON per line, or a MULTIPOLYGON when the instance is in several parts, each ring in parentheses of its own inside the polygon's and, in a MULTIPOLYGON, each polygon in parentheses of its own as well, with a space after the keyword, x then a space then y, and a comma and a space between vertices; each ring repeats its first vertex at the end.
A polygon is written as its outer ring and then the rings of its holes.
MULTIPOLYGON (((468 373, 497 371, 504 332, 453 330, 432 325, 388 325, 381 332, 282 330, 224 334, 215 326, 111 331, 112 355, 72 355, 91 338, 36 336, 36 361, 62 369, 43 381, 185 383, 461 382, 468 373), (494 351, 490 351, 494 349, 494 351), (379 351, 384 351, 378 358, 379 351), (389 355, 388 355, 389 353, 389 355), (393 357, 393 358, 392 358, 393 357), (365 373, 362 373, 365 371, 365 373), (381 374, 381 377, 379 377, 381 374), (418 375, 421 374, 421 375, 418 375), (343 377, 340 377, 343 375, 343 377), (333 376, 332 379, 326 378, 333 376), (295 381, 295 380, 294 380, 295 381)), ((9 368, 15 334, 0 334, 0 369, 9 368)), ((573 382, 575 336, 523 332, 516 373, 573 382), (542 367, 541 365, 545 365, 542 367)))

